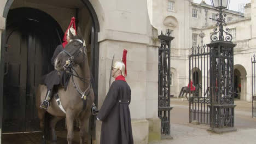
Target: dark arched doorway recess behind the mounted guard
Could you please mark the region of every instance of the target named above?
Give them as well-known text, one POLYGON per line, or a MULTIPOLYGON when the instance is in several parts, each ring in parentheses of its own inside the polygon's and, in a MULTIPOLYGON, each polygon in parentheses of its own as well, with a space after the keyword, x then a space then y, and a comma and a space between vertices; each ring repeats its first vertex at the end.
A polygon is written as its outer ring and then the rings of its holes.
POLYGON ((39 130, 34 91, 40 77, 54 68, 50 58, 61 43, 59 37, 63 37, 61 27, 43 11, 9 10, 4 42, 3 133, 39 130))

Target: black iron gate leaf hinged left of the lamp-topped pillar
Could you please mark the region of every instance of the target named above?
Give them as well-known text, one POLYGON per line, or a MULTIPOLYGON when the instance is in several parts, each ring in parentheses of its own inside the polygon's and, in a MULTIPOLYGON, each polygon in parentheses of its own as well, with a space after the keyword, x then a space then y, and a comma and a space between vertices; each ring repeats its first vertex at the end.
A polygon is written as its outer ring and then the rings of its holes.
POLYGON ((192 47, 189 55, 189 122, 210 124, 210 49, 192 47))

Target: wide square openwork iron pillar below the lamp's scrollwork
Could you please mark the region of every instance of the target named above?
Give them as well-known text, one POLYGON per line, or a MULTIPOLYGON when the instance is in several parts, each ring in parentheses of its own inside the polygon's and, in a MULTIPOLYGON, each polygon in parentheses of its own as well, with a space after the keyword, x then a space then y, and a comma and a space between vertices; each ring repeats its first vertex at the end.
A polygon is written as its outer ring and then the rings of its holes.
POLYGON ((213 41, 210 48, 211 123, 216 128, 234 127, 234 50, 228 41, 213 41))

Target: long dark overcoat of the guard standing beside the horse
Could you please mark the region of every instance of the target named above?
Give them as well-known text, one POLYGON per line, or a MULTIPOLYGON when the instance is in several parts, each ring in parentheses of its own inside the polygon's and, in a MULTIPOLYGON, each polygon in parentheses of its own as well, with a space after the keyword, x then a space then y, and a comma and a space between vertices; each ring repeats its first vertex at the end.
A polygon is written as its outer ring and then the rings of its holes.
POLYGON ((102 121, 101 144, 133 144, 130 101, 129 85, 114 81, 97 115, 102 121))

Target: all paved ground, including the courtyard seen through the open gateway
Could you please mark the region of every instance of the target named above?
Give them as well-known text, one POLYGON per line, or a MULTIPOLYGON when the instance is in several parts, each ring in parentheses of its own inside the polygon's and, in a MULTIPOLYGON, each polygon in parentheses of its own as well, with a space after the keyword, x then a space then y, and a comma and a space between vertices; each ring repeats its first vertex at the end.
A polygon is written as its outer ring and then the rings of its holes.
POLYGON ((216 143, 242 143, 255 144, 256 118, 252 118, 252 103, 236 100, 235 127, 236 132, 226 134, 214 134, 207 129, 208 125, 189 124, 188 101, 184 99, 171 99, 171 136, 173 140, 161 140, 150 144, 216 144, 216 143))

